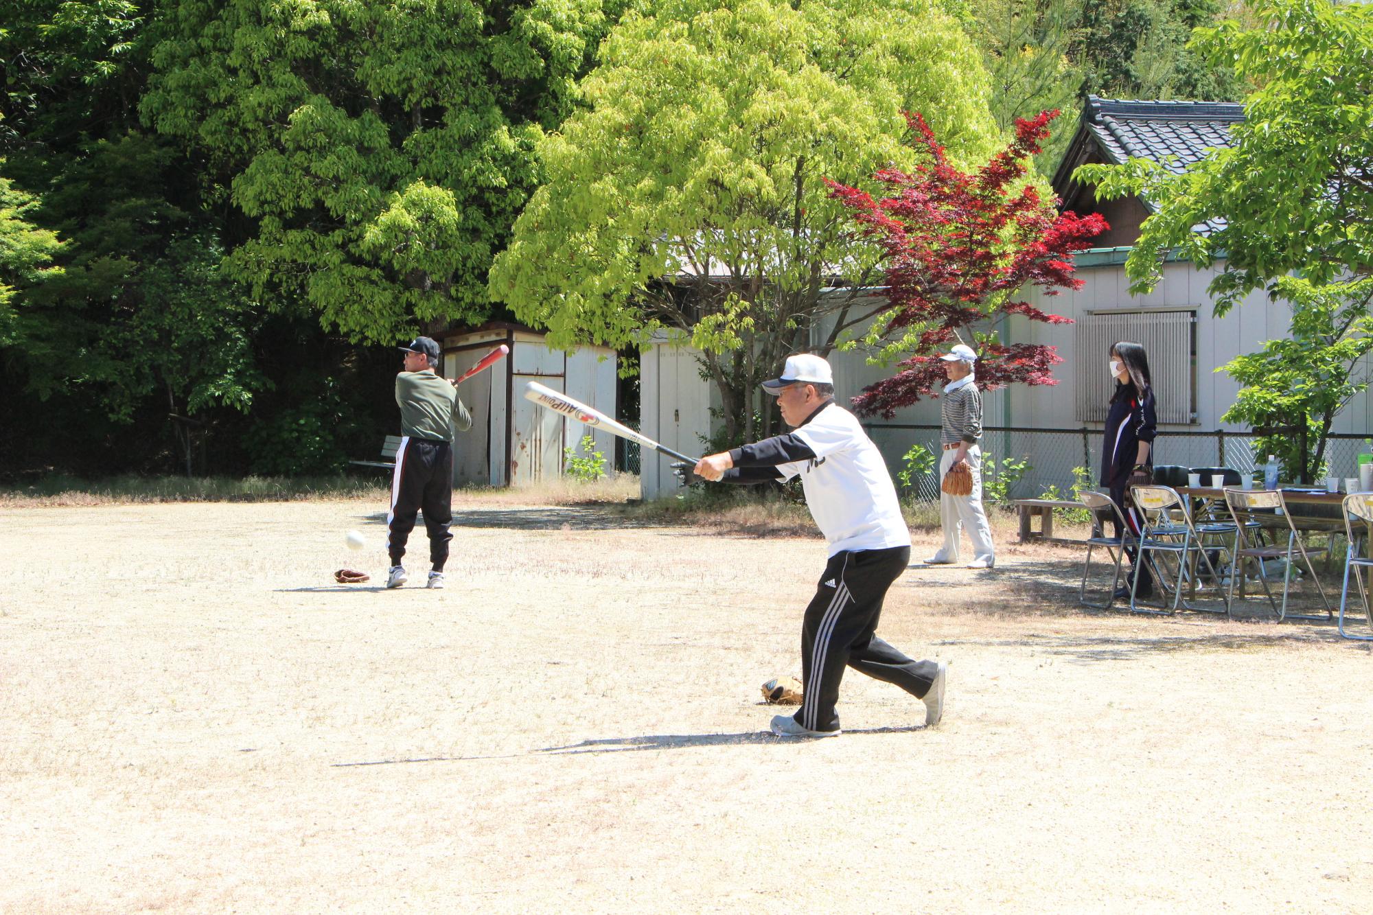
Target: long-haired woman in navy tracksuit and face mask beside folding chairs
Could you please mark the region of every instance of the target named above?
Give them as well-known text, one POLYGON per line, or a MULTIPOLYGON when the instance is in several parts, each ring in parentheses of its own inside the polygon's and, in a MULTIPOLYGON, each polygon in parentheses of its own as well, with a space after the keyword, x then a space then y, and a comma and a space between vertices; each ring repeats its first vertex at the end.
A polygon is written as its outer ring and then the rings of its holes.
MULTIPOLYGON (((1111 492, 1111 500, 1120 507, 1130 530, 1140 534, 1140 514, 1129 497, 1134 484, 1153 481, 1153 438, 1157 436, 1157 422, 1153 414, 1153 382, 1149 376, 1149 357, 1140 343, 1122 341, 1111 348, 1111 374, 1116 389, 1111 397, 1111 411, 1101 441, 1101 485, 1111 492)), ((1116 536, 1120 523, 1116 522, 1116 536)), ((1138 559, 1131 551, 1135 570, 1138 559)), ((1130 596, 1129 583, 1118 596, 1130 596)), ((1153 594, 1153 577, 1145 570, 1140 578, 1137 594, 1153 594)))

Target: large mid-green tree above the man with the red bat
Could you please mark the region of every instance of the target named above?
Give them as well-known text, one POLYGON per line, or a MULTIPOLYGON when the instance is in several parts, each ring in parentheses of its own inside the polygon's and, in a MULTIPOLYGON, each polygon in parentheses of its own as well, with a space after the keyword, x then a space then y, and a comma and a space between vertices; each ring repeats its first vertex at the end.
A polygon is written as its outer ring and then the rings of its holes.
POLYGON ((227 269, 354 341, 479 320, 622 0, 169 3, 143 100, 238 214, 227 269))

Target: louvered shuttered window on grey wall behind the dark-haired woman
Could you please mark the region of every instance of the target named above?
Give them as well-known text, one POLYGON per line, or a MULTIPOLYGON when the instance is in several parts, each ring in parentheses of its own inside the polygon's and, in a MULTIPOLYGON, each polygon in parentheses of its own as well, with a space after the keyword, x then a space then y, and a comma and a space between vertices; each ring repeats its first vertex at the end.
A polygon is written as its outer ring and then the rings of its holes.
POLYGON ((1140 343, 1149 356, 1159 422, 1193 422, 1196 312, 1097 312, 1079 317, 1072 357, 1078 382, 1076 419, 1105 422, 1115 392, 1108 353, 1123 339, 1140 343))

